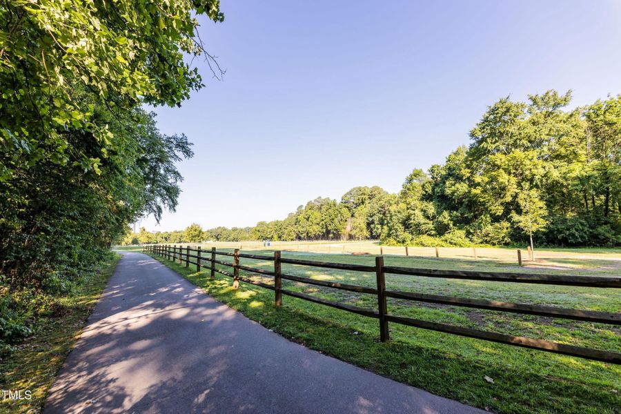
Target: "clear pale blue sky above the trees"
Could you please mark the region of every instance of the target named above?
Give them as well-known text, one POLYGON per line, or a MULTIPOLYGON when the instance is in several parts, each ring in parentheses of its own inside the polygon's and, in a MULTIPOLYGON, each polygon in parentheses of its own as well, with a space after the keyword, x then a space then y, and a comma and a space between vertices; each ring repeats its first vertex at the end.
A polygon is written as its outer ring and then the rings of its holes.
POLYGON ((232 1, 201 37, 224 81, 156 108, 195 157, 148 230, 253 226, 354 186, 399 190, 500 97, 621 93, 621 1, 232 1))

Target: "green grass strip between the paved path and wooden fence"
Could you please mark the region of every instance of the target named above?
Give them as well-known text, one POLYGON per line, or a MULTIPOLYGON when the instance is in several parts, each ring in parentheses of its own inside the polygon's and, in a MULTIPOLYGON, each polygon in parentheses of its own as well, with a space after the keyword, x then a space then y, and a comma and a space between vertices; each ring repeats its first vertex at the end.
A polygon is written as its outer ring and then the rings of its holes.
MULTIPOLYGON (((437 395, 497 413, 615 413, 621 407, 620 366, 398 324, 391 324, 391 342, 382 344, 376 319, 288 296, 283 297, 281 308, 275 308, 272 290, 244 282, 234 290, 229 277, 217 274, 215 279, 210 279, 208 270, 196 273, 195 266, 186 268, 161 257, 152 257, 204 288, 206 293, 288 339, 437 395)), ((425 267, 411 260, 410 266, 425 267)), ((331 261, 353 263, 355 258, 333 255, 331 261)), ((319 278, 311 274, 300 276, 319 278)), ((328 276, 324 272, 324 277, 328 276)), ((346 280, 364 284, 364 279, 347 277, 343 282, 346 280)), ((286 288, 323 296, 316 286, 292 284, 286 288)), ((569 299, 573 295, 566 296, 571 302, 569 299)), ((616 299, 611 300, 615 302, 616 299)), ((426 310, 424 306, 417 306, 411 306, 413 312, 426 310)), ((607 308, 611 303, 600 306, 607 308)), ((508 318, 511 325, 522 320, 520 315, 508 318)), ((526 321, 531 322, 527 315, 526 321)), ((500 322, 486 322, 484 318, 482 323, 489 323, 488 330, 493 331, 500 322)), ((531 329, 530 326, 513 328, 531 329)), ((555 328, 552 334, 561 333, 555 328)), ((617 350, 615 332, 604 331, 602 337, 597 336, 599 333, 593 335, 594 339, 589 341, 597 344, 602 340, 602 344, 617 350)))

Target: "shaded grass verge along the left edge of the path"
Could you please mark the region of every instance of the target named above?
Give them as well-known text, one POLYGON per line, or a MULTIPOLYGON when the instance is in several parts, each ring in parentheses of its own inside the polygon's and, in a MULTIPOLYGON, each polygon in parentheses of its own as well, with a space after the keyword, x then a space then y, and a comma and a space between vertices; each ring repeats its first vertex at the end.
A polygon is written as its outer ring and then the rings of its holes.
POLYGON ((73 344, 95 308, 101 291, 112 276, 121 256, 115 254, 92 274, 71 295, 59 297, 61 313, 42 319, 40 328, 32 337, 17 346, 10 355, 0 359, 0 390, 18 390, 32 393, 30 400, 2 399, 0 414, 38 413, 45 402, 48 389, 65 362, 73 344))

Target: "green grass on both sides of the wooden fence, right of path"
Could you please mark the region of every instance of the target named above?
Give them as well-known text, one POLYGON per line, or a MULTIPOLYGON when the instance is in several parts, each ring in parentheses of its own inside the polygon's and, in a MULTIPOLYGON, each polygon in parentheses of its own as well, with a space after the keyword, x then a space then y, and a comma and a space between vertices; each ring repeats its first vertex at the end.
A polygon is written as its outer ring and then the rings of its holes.
MULTIPOLYGON (((230 246, 218 246, 226 248, 230 246)), ((232 247, 232 246, 231 246, 232 247)), ((237 246, 238 247, 238 246, 237 246)), ((247 247, 247 246, 246 246, 247 247)), ((284 246, 272 246, 283 248, 284 246)), ((207 245, 204 248, 208 248, 207 245)), ((244 246, 242 246, 244 248, 244 246)), ((482 249, 477 260, 460 257, 460 250, 441 249, 441 257, 398 257, 388 255, 387 265, 420 268, 500 270, 564 275, 619 275, 620 250, 542 250, 538 262, 518 267, 511 250, 482 249), (442 257, 442 250, 446 256, 442 257), (450 253, 450 254, 449 254, 450 253)), ((466 250, 466 249, 463 249, 466 250)), ((471 249, 470 249, 471 250, 471 249)), ((262 253, 269 254, 264 250, 262 253)), ((384 251, 386 253, 386 251, 384 251)), ((515 253, 515 250, 513 250, 515 253)), ((462 253, 463 254, 463 253, 462 253)), ((364 255, 284 252, 284 257, 304 257, 326 262, 373 264, 364 255)), ((162 260, 161 257, 158 259, 162 260)), ((222 258, 221 258, 222 259, 222 258)), ((225 260, 230 259, 224 258, 225 260)), ((419 328, 391 324, 388 344, 378 341, 376 319, 285 296, 284 306, 273 306, 273 291, 244 284, 233 290, 232 280, 206 272, 195 273, 163 260, 190 281, 264 326, 345 361, 371 369, 395 380, 424 388, 498 413, 615 413, 621 407, 621 367, 542 351, 494 344, 419 328), (487 382, 485 377, 493 379, 487 382)), ((272 262, 241 260, 246 266, 270 269, 272 262)), ((230 271, 230 268, 226 270, 230 271)), ((375 275, 283 264, 283 272, 314 279, 375 286, 375 275)), ((242 275, 244 273, 242 272, 242 275)), ((263 279, 270 282, 270 279, 263 279)), ((546 304, 566 308, 618 312, 621 292, 613 289, 575 288, 433 279, 386 275, 387 288, 453 295, 504 302, 546 304)), ((283 280, 288 290, 326 299, 375 308, 374 296, 333 290, 283 280)), ((388 299, 388 312, 487 331, 549 339, 565 344, 621 352, 618 326, 515 315, 388 299)))

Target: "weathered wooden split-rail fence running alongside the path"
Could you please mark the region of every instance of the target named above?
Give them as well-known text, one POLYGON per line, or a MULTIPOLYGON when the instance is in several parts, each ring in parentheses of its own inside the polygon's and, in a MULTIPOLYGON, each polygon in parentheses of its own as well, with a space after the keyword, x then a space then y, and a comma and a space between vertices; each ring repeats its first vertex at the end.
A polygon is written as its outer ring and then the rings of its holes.
POLYGON ((462 297, 449 297, 440 295, 426 295, 422 293, 402 292, 399 290, 386 289, 386 273, 395 275, 412 275, 423 277, 442 277, 447 279, 469 279, 488 282, 510 282, 510 283, 529 283, 529 284, 551 284, 562 286, 581 286, 585 288, 621 288, 621 277, 591 277, 591 276, 564 276, 564 275, 545 275, 545 274, 525 274, 525 273, 492 273, 492 272, 475 272, 475 271, 457 271, 457 270, 432 270, 420 268, 404 268, 396 266, 384 266, 384 257, 375 257, 375 266, 365 266, 360 264, 342 264, 329 262, 315 262, 312 260, 290 259, 281 257, 279 251, 275 251, 273 256, 268 255, 251 255, 248 253, 240 253, 239 249, 235 249, 234 253, 224 252, 212 248, 211 250, 201 250, 201 248, 190 248, 186 246, 170 246, 170 245, 147 245, 144 250, 148 253, 166 257, 166 259, 174 260, 179 264, 185 262, 186 267, 190 264, 196 266, 196 270, 201 268, 209 268, 211 277, 215 276, 215 272, 221 273, 233 278, 233 286, 237 288, 239 281, 249 284, 255 284, 266 289, 275 290, 275 305, 282 304, 282 295, 297 297, 299 299, 308 300, 317 304, 332 306, 333 308, 342 309, 343 311, 357 313, 366 317, 374 317, 380 322, 380 339, 382 342, 388 341, 388 322, 396 324, 404 324, 415 326, 417 328, 430 329, 443 333, 451 333, 453 335, 462 335, 477 339, 484 339, 492 342, 500 342, 502 344, 510 344, 514 346, 522 346, 524 348, 533 348, 541 351, 552 353, 560 353, 575 357, 587 359, 595 359, 598 361, 609 362, 612 364, 621 364, 621 353, 613 351, 604 351, 593 348, 583 348, 580 346, 572 346, 559 344, 558 342, 546 341, 544 339, 533 339, 527 337, 519 337, 506 335, 502 333, 494 333, 489 331, 481 331, 473 328, 463 328, 449 324, 440 324, 436 322, 428 322, 421 319, 413 319, 410 317, 402 317, 391 315, 388 313, 386 299, 393 297, 396 299, 406 299, 415 302, 428 302, 434 304, 446 304, 451 306, 466 306, 469 308, 487 309, 491 311, 522 313, 528 315, 539 315, 547 317, 555 317, 562 319, 575 319, 586 322, 597 322, 600 324, 621 325, 621 313, 605 313, 598 311, 580 311, 577 309, 557 308, 555 306, 540 306, 532 304, 514 304, 507 302, 495 302, 482 299, 467 299, 462 297), (219 260, 217 256, 233 257, 233 262, 219 260), (274 270, 264 270, 243 266, 239 264, 240 258, 258 259, 274 262, 274 270), (195 261, 193 261, 195 259, 195 261), (204 262, 208 262, 208 266, 204 266, 204 262), (319 268, 332 268, 341 270, 353 270, 359 272, 375 273, 377 286, 370 288, 366 286, 356 286, 351 284, 342 284, 338 282, 326 282, 322 280, 310 279, 308 277, 298 277, 282 273, 282 264, 295 264, 299 266, 312 266, 319 268), (233 273, 217 268, 215 265, 220 264, 233 268, 233 273), (266 284, 247 277, 239 275, 239 270, 244 270, 257 275, 266 275, 274 278, 274 284, 266 284), (333 302, 328 299, 322 299, 305 293, 293 292, 282 288, 282 279, 301 282, 304 284, 313 284, 335 288, 340 290, 349 290, 357 293, 368 293, 377 296, 377 310, 368 308, 359 308, 357 306, 333 302))

